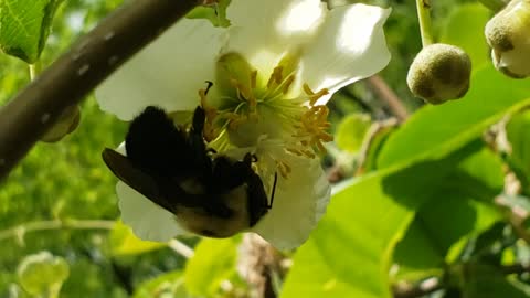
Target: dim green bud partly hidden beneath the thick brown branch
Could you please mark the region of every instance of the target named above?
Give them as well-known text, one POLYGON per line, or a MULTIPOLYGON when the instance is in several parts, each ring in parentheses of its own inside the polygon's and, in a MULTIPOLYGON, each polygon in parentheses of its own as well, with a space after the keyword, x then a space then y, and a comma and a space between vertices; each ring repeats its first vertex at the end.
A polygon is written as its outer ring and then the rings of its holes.
MULTIPOLYGON (((41 120, 46 121, 50 115, 43 115, 41 120)), ((80 125, 81 119, 81 109, 80 107, 72 106, 63 111, 56 123, 44 134, 41 138, 45 142, 56 142, 61 140, 64 136, 74 131, 80 125)))

